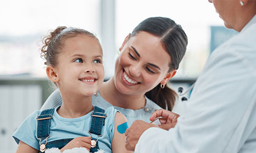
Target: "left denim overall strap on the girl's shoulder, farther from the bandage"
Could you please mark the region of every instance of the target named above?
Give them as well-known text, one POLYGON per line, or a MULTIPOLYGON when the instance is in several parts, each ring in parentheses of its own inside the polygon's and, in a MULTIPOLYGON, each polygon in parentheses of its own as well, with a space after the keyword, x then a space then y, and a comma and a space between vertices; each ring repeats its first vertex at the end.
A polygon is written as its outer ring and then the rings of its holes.
POLYGON ((50 136, 50 119, 52 118, 54 109, 55 108, 43 110, 40 116, 37 116, 37 138, 44 138, 50 136))

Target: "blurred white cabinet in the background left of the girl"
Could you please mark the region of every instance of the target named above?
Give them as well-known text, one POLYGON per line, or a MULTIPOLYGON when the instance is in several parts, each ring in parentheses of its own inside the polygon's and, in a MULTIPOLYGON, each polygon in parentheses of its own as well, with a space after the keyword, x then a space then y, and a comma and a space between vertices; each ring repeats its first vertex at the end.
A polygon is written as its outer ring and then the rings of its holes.
POLYGON ((41 106, 42 89, 38 85, 0 86, 0 153, 13 153, 17 144, 11 137, 29 114, 41 106))

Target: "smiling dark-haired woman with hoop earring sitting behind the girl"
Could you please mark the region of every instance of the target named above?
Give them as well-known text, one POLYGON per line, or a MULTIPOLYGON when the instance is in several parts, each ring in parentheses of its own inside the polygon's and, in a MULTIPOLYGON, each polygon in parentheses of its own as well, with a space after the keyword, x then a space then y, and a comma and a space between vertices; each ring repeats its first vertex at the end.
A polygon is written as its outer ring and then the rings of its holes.
MULTIPOLYGON (((149 122, 157 109, 172 110, 176 93, 167 82, 175 75, 186 47, 185 32, 171 19, 152 17, 142 21, 124 39, 115 74, 103 83, 92 103, 104 109, 115 106, 126 116, 129 126, 136 119, 149 122)), ((41 109, 60 104, 57 90, 41 109)))

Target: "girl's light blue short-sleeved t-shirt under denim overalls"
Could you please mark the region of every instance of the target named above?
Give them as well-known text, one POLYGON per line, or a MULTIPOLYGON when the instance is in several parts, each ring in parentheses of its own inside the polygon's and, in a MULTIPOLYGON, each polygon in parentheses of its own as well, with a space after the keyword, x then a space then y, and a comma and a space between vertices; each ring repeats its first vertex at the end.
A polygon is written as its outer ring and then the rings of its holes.
MULTIPOLYGON (((63 118, 57 113, 56 107, 51 119, 50 137, 48 142, 66 138, 76 138, 80 136, 90 136, 91 113, 79 118, 63 118)), ((36 110, 32 113, 19 128, 13 133, 13 138, 19 144, 19 141, 28 144, 29 146, 40 150, 39 140, 36 138, 37 123, 36 117, 42 111, 36 110)), ((105 119, 105 126, 102 129, 102 136, 99 137, 99 149, 103 149, 105 153, 112 153, 111 142, 115 130, 115 113, 117 110, 109 107, 105 110, 107 118, 105 119)), ((92 138, 97 138, 97 135, 92 134, 92 138)), ((42 140, 41 144, 45 144, 46 140, 42 140)))

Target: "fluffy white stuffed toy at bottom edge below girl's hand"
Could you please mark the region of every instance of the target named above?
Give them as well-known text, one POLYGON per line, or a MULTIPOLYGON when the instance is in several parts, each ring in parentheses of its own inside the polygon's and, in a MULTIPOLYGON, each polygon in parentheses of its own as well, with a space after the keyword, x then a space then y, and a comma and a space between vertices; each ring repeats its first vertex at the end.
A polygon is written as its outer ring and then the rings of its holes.
MULTIPOLYGON (((50 149, 46 149, 45 153, 61 153, 61 151, 58 148, 50 148, 50 149)), ((62 153, 90 153, 90 152, 86 148, 75 147, 72 149, 66 149, 62 153)), ((100 149, 95 153, 104 153, 104 151, 100 149)))

